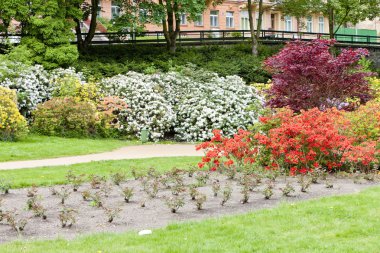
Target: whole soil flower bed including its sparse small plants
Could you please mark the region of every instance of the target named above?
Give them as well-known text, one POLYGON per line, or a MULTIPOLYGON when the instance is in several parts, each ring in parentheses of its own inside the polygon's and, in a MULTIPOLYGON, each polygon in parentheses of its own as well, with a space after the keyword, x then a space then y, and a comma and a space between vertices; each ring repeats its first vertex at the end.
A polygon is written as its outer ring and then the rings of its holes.
MULTIPOLYGON (((305 175, 150 170, 125 179, 68 173, 67 185, 0 194, 0 242, 139 231, 169 223, 271 208, 279 203, 348 194, 377 185, 371 175, 305 175)), ((3 192, 4 188, 3 188, 3 192)))

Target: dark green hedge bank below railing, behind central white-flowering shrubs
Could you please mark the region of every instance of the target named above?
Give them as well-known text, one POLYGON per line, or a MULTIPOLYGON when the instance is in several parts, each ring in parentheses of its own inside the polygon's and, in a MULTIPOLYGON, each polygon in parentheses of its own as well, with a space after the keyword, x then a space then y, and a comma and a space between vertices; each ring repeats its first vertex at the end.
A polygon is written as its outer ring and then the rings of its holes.
POLYGON ((149 46, 94 46, 74 66, 86 75, 101 79, 128 71, 167 72, 173 66, 192 63, 222 76, 239 75, 249 83, 265 83, 270 75, 263 70, 261 62, 279 48, 262 45, 259 47, 259 57, 255 57, 251 54, 249 44, 179 48, 175 55, 162 48, 149 46))

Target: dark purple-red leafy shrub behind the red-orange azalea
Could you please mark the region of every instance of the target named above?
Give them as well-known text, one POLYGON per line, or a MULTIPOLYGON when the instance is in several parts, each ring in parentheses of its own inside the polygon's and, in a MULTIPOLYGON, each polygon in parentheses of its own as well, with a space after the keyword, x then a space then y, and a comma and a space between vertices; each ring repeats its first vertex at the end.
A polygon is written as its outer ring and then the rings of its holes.
POLYGON ((314 40, 290 42, 265 66, 273 74, 267 105, 290 107, 299 112, 317 107, 352 109, 349 99, 365 103, 371 89, 359 60, 368 55, 366 49, 343 49, 338 56, 330 53, 335 41, 314 40))

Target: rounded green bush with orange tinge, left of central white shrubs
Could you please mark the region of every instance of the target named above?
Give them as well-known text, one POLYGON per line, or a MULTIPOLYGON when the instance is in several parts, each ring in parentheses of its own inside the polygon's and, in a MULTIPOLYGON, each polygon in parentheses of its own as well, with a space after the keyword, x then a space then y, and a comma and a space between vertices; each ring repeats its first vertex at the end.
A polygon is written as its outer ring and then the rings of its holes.
POLYGON ((53 98, 33 112, 32 129, 43 135, 62 137, 97 136, 99 118, 92 102, 77 98, 53 98))

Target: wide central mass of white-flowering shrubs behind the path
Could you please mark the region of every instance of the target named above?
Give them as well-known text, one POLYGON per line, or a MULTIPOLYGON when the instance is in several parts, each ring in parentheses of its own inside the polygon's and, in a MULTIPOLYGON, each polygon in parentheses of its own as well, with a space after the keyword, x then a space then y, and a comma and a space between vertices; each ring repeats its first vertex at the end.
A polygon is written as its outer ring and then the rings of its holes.
POLYGON ((256 121, 257 111, 248 108, 258 108, 262 101, 238 76, 191 68, 154 75, 129 72, 104 79, 102 87, 128 104, 124 130, 139 134, 147 128, 153 140, 174 135, 177 140, 203 141, 213 129, 231 136, 256 121))

